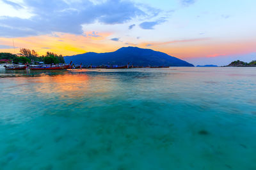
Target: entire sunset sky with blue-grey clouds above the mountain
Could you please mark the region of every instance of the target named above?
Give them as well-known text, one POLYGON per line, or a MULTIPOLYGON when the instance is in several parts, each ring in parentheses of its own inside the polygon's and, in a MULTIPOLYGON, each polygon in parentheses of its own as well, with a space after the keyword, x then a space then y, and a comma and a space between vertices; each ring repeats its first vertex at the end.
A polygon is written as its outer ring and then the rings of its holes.
POLYGON ((254 0, 0 0, 0 52, 76 55, 138 46, 195 65, 250 62, 255 6, 254 0))

